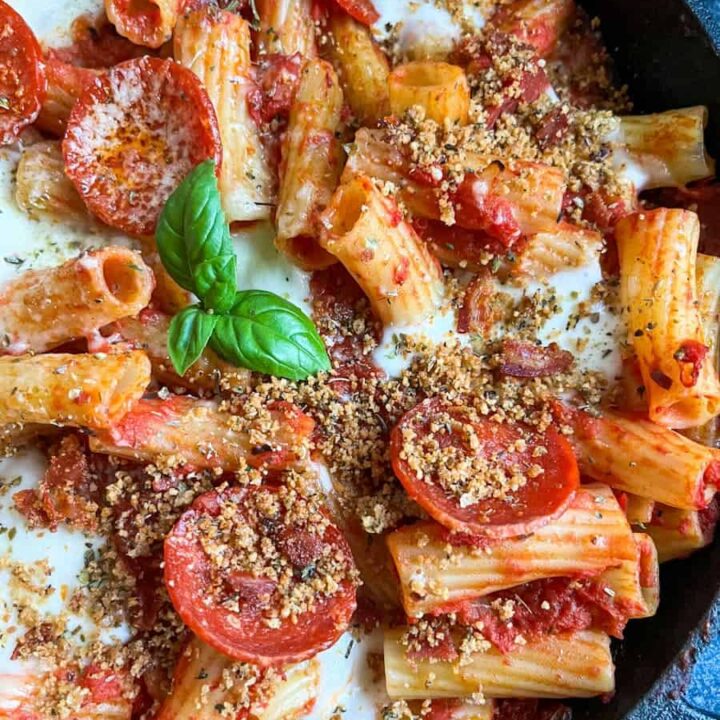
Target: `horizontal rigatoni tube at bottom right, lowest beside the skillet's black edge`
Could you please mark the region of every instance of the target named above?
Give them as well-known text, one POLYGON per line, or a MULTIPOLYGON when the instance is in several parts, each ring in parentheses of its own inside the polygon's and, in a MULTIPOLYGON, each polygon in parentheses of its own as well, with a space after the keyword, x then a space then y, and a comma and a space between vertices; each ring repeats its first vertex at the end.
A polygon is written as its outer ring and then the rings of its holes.
POLYGON ((385 633, 385 682, 391 698, 592 697, 615 687, 610 638, 602 632, 547 635, 503 654, 495 648, 469 661, 411 662, 403 629, 385 633))

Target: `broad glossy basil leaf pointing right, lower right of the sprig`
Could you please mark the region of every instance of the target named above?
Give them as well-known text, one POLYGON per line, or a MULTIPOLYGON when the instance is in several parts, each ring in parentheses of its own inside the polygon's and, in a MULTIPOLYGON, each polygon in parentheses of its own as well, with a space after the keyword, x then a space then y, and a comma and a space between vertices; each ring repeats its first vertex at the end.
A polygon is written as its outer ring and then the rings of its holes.
POLYGON ((264 290, 238 292, 210 338, 233 365, 289 380, 330 370, 325 345, 312 320, 291 302, 264 290))

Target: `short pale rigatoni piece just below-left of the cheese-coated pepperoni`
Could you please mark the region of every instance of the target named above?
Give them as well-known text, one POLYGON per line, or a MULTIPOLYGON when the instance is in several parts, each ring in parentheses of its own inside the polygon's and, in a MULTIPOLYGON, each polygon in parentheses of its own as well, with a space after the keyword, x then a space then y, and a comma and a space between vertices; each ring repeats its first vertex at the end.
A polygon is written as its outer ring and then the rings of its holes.
POLYGON ((85 203, 67 175, 58 141, 23 148, 15 176, 15 199, 32 218, 55 220, 86 217, 85 203))

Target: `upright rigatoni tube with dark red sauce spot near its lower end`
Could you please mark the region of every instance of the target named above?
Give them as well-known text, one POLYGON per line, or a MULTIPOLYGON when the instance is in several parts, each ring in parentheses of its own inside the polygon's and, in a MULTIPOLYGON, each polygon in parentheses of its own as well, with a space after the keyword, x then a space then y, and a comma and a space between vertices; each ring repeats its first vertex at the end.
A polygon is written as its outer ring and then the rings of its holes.
POLYGON ((697 306, 700 223, 687 210, 647 210, 615 226, 620 302, 651 420, 696 427, 720 412, 720 382, 697 306))

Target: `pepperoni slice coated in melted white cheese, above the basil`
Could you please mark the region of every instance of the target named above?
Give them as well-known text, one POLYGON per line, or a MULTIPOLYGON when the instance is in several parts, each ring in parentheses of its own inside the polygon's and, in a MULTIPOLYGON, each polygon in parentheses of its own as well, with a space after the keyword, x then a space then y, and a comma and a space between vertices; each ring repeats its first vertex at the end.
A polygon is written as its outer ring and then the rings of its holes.
POLYGON ((65 172, 103 222, 149 235, 169 195, 222 144, 197 76, 142 57, 111 68, 78 98, 63 141, 65 172))

